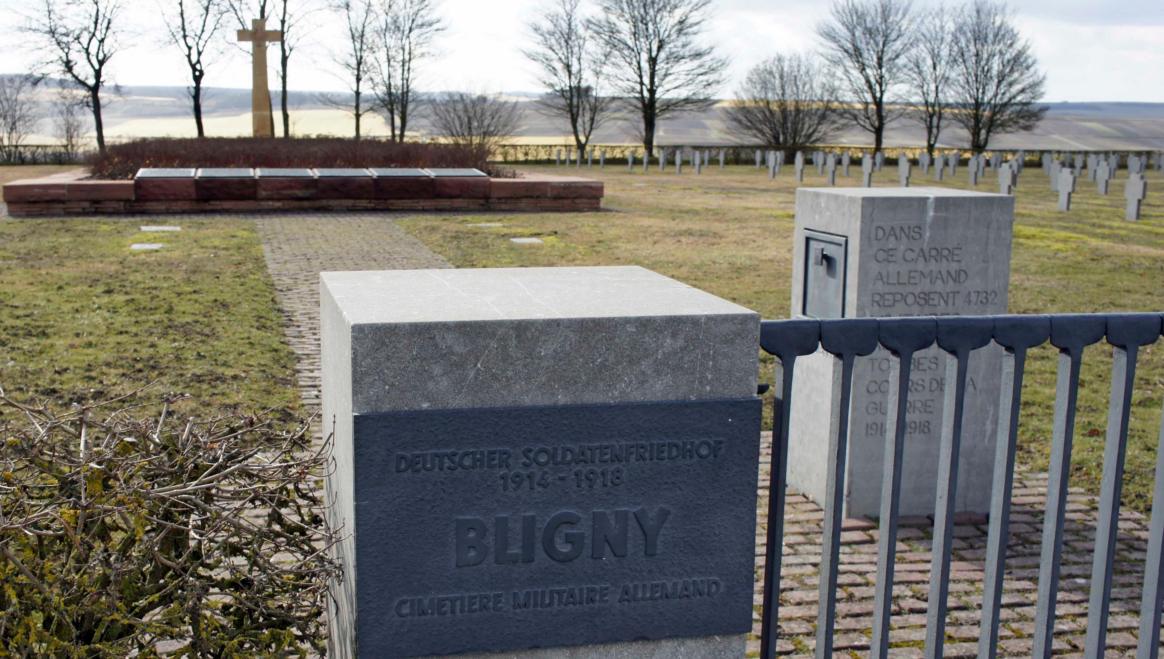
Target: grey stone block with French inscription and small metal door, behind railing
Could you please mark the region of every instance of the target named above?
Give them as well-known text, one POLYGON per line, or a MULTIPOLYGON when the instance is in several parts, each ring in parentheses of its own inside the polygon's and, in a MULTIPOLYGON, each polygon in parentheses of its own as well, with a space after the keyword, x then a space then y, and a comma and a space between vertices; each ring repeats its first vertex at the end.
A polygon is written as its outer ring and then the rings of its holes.
MULTIPOLYGON (((935 187, 796 191, 793 317, 994 315, 1007 311, 1014 198, 935 187)), ((845 516, 878 516, 890 359, 857 359, 845 516)), ((824 501, 832 358, 796 361, 788 485, 824 501)), ((971 357, 957 510, 989 508, 1001 349, 971 357)), ((901 514, 932 515, 945 354, 914 356, 901 514)))

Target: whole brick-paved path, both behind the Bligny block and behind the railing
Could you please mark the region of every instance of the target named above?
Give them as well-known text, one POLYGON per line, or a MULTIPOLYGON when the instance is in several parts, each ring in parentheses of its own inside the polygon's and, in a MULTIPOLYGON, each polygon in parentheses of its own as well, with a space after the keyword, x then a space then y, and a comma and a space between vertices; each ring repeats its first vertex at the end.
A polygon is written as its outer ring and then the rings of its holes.
MULTIPOLYGON (((298 354, 297 377, 308 409, 319 406, 319 273, 331 270, 395 270, 452 267, 439 255, 405 234, 386 214, 256 215, 267 265, 275 280, 286 320, 286 335, 298 354)), ((753 638, 760 631, 764 583, 764 538, 768 506, 771 432, 762 436, 755 540, 755 615, 753 638)), ((1020 467, 1022 470, 1022 467, 1020 467)), ((1010 518, 1010 558, 1007 561, 999 631, 1000 656, 1030 656, 1035 624, 1035 592, 1042 542, 1046 474, 1023 470, 1015 478, 1010 518)), ((1087 593, 1094 538, 1095 497, 1072 488, 1064 532, 1063 571, 1053 651, 1064 659, 1083 656, 1087 622, 1087 593)), ((785 509, 785 547, 781 579, 781 654, 795 657, 815 650, 821 520, 824 511, 801 494, 789 492, 785 509)), ((954 530, 945 657, 978 654, 981 587, 985 579, 986 520, 963 516, 954 530)), ((894 578, 894 617, 890 657, 922 657, 929 589, 930 533, 928 518, 903 518, 899 530, 894 578)), ((1108 622, 1106 659, 1134 657, 1138 629, 1148 520, 1124 511, 1120 521, 1120 554, 1108 622)), ((876 578, 874 523, 849 520, 842 533, 837 589, 838 657, 868 657, 873 624, 873 585, 876 578)), ((748 643, 757 657, 759 640, 748 643)))

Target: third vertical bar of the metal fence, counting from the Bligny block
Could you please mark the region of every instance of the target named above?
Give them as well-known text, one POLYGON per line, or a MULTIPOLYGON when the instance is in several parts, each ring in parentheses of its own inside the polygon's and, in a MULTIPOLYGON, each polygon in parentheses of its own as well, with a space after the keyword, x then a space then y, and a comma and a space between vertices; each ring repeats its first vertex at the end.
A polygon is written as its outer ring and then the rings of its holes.
POLYGON ((881 318, 878 325, 881 345, 893 354, 893 358, 889 360, 889 404, 886 411, 885 470, 881 481, 881 522, 870 658, 886 659, 889 656, 893 568, 897 556, 897 514, 901 509, 901 463, 906 446, 910 366, 914 353, 928 348, 937 338, 938 325, 932 317, 881 318))

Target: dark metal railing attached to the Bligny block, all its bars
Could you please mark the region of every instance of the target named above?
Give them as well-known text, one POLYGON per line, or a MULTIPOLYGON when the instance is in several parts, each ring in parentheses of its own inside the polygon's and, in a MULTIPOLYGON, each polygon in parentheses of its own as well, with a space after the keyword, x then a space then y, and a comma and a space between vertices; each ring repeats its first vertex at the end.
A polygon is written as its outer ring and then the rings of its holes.
MULTIPOLYGON (((966 372, 973 351, 994 342, 1005 349, 989 527, 986 547, 979 659, 994 659, 998 651, 1002 581, 1009 535, 1010 495, 1014 483, 1018 413, 1027 350, 1050 342, 1059 350, 1055 396, 1055 423, 1043 520, 1032 656, 1051 657, 1056 599, 1067 507, 1067 475, 1079 392, 1084 349, 1107 339, 1112 346, 1112 394, 1108 407, 1103 472, 1092 564, 1085 656, 1103 656, 1110 604, 1120 497, 1128 445, 1128 422, 1140 348, 1155 343, 1162 332, 1161 314, 1072 314, 1013 316, 942 316, 909 318, 842 318, 765 321, 761 348, 776 357, 775 411, 773 417, 772 472, 768 499, 767 553, 764 573, 761 618, 762 659, 776 656, 780 561, 783 544, 785 489, 790 409, 794 404, 793 374, 799 357, 818 349, 832 356, 839 377, 832 380, 831 420, 828 445, 828 483, 822 521, 819 600, 816 625, 816 657, 832 657, 836 623, 837 574, 839 568, 844 474, 849 443, 850 396, 853 363, 878 345, 889 351, 889 404, 887 443, 881 488, 880 536, 874 590, 871 659, 886 659, 893 607, 895 549, 897 544, 902 456, 906 439, 911 356, 937 344, 946 354, 943 423, 938 465, 937 506, 930 564, 929 604, 925 623, 925 659, 941 659, 945 645, 946 595, 954 527, 958 454, 961 443, 966 372), (953 382, 954 386, 949 386, 953 382)), ((1161 431, 1164 442, 1164 428, 1161 431)), ((1157 452, 1154 502, 1164 501, 1164 451, 1157 452)), ((1164 600, 1164 511, 1154 510, 1149 528, 1144 585, 1141 602, 1137 659, 1157 659, 1161 607, 1164 600)))

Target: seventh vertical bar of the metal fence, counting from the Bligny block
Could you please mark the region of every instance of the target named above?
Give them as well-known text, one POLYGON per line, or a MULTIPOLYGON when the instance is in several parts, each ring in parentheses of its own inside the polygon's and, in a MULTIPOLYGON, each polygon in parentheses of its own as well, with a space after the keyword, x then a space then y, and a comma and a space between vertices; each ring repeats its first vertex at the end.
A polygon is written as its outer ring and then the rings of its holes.
POLYGON ((1136 384, 1136 357, 1140 346, 1155 343, 1159 335, 1158 314, 1110 314, 1107 317, 1107 341, 1112 344, 1112 397, 1108 401, 1085 657, 1103 657, 1107 645, 1107 615, 1112 601, 1115 545, 1120 532, 1120 495, 1123 490, 1131 393, 1136 384))

